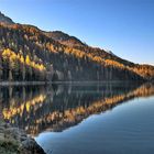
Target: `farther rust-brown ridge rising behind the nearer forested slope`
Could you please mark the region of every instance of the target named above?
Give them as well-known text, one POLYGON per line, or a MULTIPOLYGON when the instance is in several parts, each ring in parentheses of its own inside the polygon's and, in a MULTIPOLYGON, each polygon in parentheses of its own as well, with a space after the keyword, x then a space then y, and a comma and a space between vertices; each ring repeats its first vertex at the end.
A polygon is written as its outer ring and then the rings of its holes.
POLYGON ((107 52, 102 48, 88 46, 87 44, 84 44, 80 40, 76 38, 75 36, 69 36, 63 32, 58 32, 58 31, 50 32, 47 35, 53 40, 58 41, 62 44, 80 50, 86 54, 92 55, 94 57, 99 56, 99 58, 103 61, 107 59, 112 61, 111 63, 113 63, 114 65, 120 65, 120 64, 124 65, 129 70, 136 73, 138 75, 142 76, 145 79, 148 80, 154 79, 154 66, 134 64, 127 59, 122 59, 121 57, 114 55, 111 51, 107 52))

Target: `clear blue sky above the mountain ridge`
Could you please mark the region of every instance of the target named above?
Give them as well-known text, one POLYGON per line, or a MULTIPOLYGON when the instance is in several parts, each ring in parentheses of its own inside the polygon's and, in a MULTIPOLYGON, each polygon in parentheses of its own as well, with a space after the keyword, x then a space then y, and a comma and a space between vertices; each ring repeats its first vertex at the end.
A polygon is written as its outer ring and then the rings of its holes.
POLYGON ((154 65, 154 0, 0 0, 14 22, 63 31, 134 63, 154 65))

